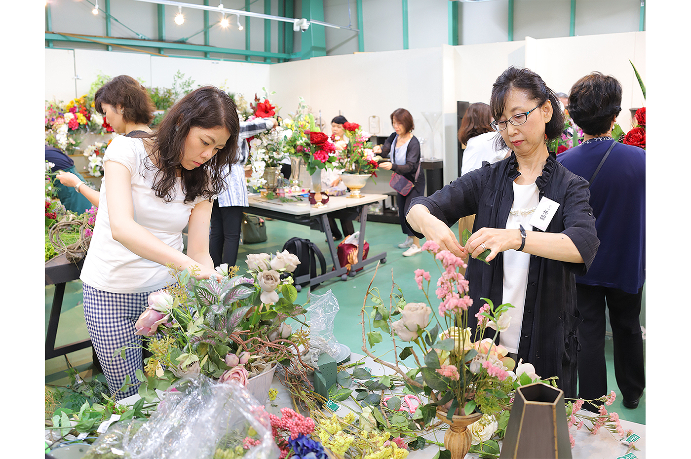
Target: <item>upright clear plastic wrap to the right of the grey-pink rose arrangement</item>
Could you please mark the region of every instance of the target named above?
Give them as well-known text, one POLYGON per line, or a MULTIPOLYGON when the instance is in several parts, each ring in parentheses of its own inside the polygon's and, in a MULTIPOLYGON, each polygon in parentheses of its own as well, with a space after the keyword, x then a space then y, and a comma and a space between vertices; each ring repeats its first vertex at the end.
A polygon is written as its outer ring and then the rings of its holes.
POLYGON ((341 346, 334 337, 334 320, 339 312, 339 301, 331 290, 323 295, 310 294, 307 306, 310 323, 310 355, 319 358, 321 353, 338 357, 341 346))

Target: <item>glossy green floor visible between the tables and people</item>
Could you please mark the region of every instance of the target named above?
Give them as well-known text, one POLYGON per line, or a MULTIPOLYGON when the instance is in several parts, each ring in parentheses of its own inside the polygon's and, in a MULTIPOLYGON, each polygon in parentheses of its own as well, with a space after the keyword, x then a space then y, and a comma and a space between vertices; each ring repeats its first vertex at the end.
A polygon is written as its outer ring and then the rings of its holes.
MULTIPOLYGON (((358 229, 357 222, 356 229, 358 229)), ((453 227, 453 230, 457 233, 456 226, 453 227)), ((324 234, 314 230, 310 231, 307 227, 285 223, 283 221, 267 221, 267 235, 268 240, 265 243, 240 245, 238 254, 240 272, 244 272, 246 268, 245 257, 247 254, 280 251, 283 247, 283 243, 294 236, 310 238, 310 240, 316 243, 321 251, 327 256, 327 260, 330 258, 328 256, 328 246, 324 234)), ((395 283, 403 289, 407 301, 425 301, 424 294, 421 290, 417 289, 417 285, 413 279, 413 272, 418 268, 422 268, 429 271, 433 279, 435 279, 435 272, 438 272, 438 268, 435 265, 433 257, 426 252, 410 257, 403 256, 404 250, 399 249, 397 244, 402 242, 404 238, 405 235, 401 232, 401 227, 399 225, 368 222, 366 240, 370 244, 369 253, 375 255, 386 252, 386 263, 379 265, 379 270, 375 280, 372 282, 372 286, 378 288, 382 299, 388 301, 392 288, 393 276, 395 283)), ((359 272, 357 276, 349 277, 348 281, 341 281, 340 278, 337 278, 321 283, 317 288, 312 289, 314 294, 319 295, 325 294, 331 290, 338 299, 339 314, 334 326, 334 336, 340 343, 348 346, 354 353, 363 353, 361 350, 362 324, 360 310, 363 306, 363 298, 368 285, 370 281, 372 281, 372 276, 375 273, 375 265, 376 263, 368 265, 368 267, 359 272)), ((48 314, 50 312, 50 303, 53 299, 53 291, 53 286, 46 287, 46 326, 48 324, 48 314)), ((435 298, 436 297, 433 297, 433 299, 435 298)), ((307 301, 307 288, 299 292, 298 301, 300 303, 305 303, 307 301)), ((641 324, 645 325, 645 294, 643 298, 641 324)), ((56 346, 68 344, 86 337, 88 337, 88 333, 86 332, 84 312, 82 310, 82 285, 79 281, 70 282, 67 284, 65 290, 56 346)), ((614 402, 612 406, 608 406, 608 410, 616 411, 621 419, 645 424, 645 393, 643 393, 643 397, 641 397, 638 409, 630 410, 621 405, 621 393, 618 391, 616 380, 614 379, 611 340, 606 341, 605 351, 607 353, 607 382, 609 384, 609 389, 617 394, 616 402, 614 402)), ((394 359, 390 339, 387 340, 386 337, 384 342, 375 346, 374 352, 375 355, 388 361, 392 362, 394 359)), ((70 360, 70 364, 77 368, 82 377, 92 376, 91 348, 71 353, 68 355, 68 359, 70 360)), ((68 379, 65 369, 66 364, 64 357, 55 357, 46 360, 46 384, 66 384, 68 379)), ((97 375, 97 377, 102 377, 102 375, 97 375)))

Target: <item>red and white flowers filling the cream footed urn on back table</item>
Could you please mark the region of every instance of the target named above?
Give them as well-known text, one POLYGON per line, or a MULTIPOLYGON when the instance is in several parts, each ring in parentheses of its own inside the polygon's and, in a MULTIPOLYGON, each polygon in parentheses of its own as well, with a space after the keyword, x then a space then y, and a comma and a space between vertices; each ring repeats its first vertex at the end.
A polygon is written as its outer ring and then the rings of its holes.
POLYGON ((337 169, 343 169, 345 174, 372 174, 376 177, 379 164, 374 159, 372 144, 368 142, 371 135, 352 122, 343 123, 343 130, 348 141, 335 140, 332 136, 337 151, 337 169))

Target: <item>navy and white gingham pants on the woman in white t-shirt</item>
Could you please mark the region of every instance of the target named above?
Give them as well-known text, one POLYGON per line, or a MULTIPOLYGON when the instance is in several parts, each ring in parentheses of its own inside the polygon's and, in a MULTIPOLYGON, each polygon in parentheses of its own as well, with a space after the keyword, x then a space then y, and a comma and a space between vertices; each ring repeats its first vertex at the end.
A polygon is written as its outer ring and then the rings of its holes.
POLYGON ((149 293, 111 293, 97 290, 86 283, 84 288, 84 318, 91 343, 108 381, 108 388, 120 400, 134 395, 140 382, 135 377, 138 368, 143 368, 141 337, 135 336, 134 324, 147 306, 149 293), (120 357, 122 346, 133 346, 120 357), (119 389, 130 376, 125 392, 119 389))

